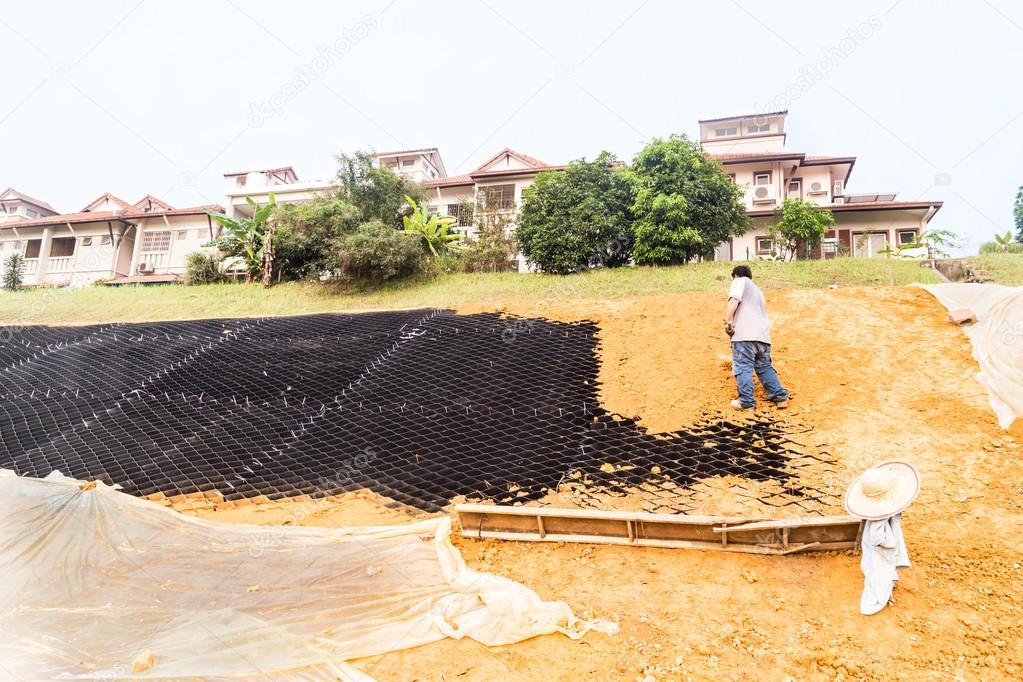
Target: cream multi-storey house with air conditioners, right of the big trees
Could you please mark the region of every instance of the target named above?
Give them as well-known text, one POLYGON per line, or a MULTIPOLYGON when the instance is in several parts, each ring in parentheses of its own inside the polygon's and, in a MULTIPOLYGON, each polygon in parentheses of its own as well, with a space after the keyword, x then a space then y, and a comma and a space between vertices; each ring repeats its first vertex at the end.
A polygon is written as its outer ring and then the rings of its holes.
MULTIPOLYGON (((788 111, 706 119, 700 122, 704 150, 721 162, 744 188, 753 229, 721 244, 716 260, 773 258, 768 234, 785 198, 813 201, 835 217, 835 228, 811 251, 813 258, 872 257, 889 246, 918 243, 941 201, 900 201, 895 192, 851 193, 847 187, 855 156, 824 156, 785 148, 788 111)), ((906 256, 924 256, 908 248, 906 256)))

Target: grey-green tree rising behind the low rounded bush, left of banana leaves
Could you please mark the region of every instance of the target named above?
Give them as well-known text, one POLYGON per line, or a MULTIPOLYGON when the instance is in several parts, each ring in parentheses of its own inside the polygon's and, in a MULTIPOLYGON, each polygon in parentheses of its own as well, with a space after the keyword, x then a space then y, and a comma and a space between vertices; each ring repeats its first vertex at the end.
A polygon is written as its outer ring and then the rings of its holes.
POLYGON ((401 228, 408 215, 405 201, 411 196, 419 203, 427 199, 422 187, 389 168, 379 166, 368 151, 338 155, 340 195, 359 210, 360 222, 379 220, 401 228))

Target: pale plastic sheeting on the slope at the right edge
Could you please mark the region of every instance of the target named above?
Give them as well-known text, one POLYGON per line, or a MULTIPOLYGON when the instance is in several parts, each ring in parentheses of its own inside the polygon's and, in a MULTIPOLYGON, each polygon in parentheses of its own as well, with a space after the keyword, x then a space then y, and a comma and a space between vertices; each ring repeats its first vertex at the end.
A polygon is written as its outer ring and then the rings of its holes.
POLYGON ((998 424, 1023 416, 1023 287, 1000 284, 928 284, 947 310, 967 309, 977 322, 963 327, 973 344, 977 374, 998 424))

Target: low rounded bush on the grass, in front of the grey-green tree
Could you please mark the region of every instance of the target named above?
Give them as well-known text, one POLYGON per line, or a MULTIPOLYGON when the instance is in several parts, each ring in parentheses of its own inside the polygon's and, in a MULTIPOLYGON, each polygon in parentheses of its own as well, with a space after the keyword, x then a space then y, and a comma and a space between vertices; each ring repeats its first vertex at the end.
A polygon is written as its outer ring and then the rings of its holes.
POLYGON ((427 262, 419 237, 380 221, 364 223, 339 237, 330 251, 330 270, 343 280, 369 284, 419 274, 427 262))

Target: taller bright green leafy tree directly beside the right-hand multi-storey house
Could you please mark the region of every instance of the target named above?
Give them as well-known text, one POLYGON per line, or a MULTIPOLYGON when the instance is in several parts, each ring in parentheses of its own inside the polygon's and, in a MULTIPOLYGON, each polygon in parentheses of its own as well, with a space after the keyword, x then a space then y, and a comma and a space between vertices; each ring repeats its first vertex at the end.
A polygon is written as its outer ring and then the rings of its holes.
POLYGON ((637 188, 632 257, 639 265, 709 258, 722 241, 749 228, 743 190, 684 135, 643 147, 631 177, 637 188))

